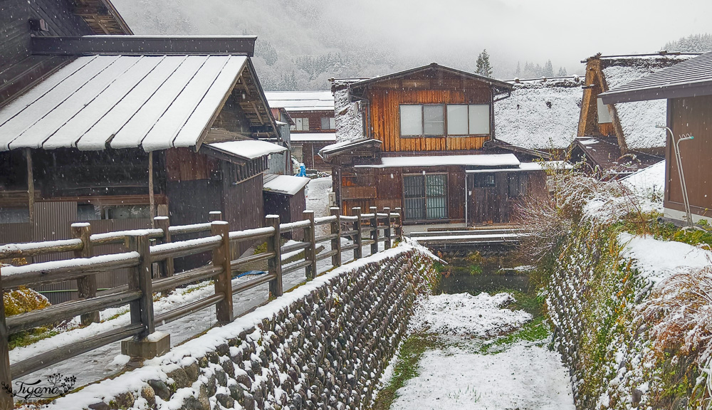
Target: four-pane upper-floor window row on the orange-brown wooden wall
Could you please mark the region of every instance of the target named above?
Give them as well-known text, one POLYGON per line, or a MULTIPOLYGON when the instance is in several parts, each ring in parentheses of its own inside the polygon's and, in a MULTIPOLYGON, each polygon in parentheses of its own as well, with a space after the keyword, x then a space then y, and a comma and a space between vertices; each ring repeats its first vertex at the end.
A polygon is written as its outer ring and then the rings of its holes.
POLYGON ((402 137, 459 137, 490 133, 488 104, 401 105, 402 137))

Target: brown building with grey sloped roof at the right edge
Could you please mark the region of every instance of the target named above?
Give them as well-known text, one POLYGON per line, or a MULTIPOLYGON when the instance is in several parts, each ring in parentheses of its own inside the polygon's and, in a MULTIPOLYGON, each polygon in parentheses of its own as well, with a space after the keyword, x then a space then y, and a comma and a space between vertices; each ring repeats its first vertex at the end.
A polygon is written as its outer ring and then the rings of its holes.
POLYGON ((666 135, 665 216, 677 221, 689 220, 684 201, 686 191, 692 221, 712 223, 712 173, 708 167, 712 159, 712 53, 619 85, 601 98, 605 104, 617 107, 641 102, 666 107, 661 124, 669 127, 673 136, 666 135), (685 137, 693 139, 680 141, 685 137), (679 144, 686 190, 679 177, 674 144, 679 144))

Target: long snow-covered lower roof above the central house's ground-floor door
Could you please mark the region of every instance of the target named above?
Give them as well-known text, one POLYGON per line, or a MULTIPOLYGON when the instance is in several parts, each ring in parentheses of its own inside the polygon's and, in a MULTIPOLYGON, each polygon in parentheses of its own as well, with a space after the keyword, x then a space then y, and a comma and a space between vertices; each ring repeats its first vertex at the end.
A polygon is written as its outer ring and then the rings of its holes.
POLYGON ((356 168, 440 167, 519 167, 514 154, 430 155, 427 157, 382 157, 380 164, 355 165, 356 168))

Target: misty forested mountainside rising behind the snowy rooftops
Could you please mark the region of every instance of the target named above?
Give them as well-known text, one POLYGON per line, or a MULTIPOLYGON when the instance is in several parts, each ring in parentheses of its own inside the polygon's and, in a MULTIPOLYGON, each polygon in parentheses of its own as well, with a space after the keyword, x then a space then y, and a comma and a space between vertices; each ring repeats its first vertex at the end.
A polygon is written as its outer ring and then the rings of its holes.
MULTIPOLYGON (((488 19, 461 25, 469 23, 468 12, 512 14, 501 2, 472 0, 463 5, 443 1, 442 7, 458 6, 463 15, 439 11, 431 16, 431 4, 419 0, 405 4, 377 0, 115 0, 114 4, 137 34, 258 36, 253 63, 265 90, 327 89, 329 78, 371 77, 433 62, 474 72, 484 48, 490 55, 493 77, 505 80, 582 74, 583 58, 599 51, 615 53, 600 46, 580 46, 562 56, 559 48, 545 42, 534 49, 526 42, 548 35, 545 30, 501 31, 501 24, 488 19), (553 58, 559 60, 552 63, 553 58)), ((689 51, 709 43, 708 35, 691 36, 666 48, 689 51)))

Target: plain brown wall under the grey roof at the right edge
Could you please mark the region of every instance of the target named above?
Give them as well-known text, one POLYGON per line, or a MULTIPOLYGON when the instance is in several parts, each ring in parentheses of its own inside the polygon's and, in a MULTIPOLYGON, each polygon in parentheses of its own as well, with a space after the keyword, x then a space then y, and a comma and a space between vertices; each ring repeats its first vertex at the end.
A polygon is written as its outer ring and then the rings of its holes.
MULTIPOLYGON (((712 95, 668 100, 669 127, 677 140, 680 135, 691 134, 694 140, 680 143, 684 161, 685 182, 692 211, 698 215, 712 216, 712 95)), ((677 162, 667 137, 665 207, 684 211, 677 162)))

